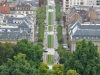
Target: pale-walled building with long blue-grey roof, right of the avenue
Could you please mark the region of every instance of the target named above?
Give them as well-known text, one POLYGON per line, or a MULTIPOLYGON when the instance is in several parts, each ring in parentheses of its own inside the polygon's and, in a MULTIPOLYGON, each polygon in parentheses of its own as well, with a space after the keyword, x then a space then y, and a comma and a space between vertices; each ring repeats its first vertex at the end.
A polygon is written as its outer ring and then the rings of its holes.
POLYGON ((100 21, 99 24, 97 22, 96 24, 81 24, 76 21, 69 25, 69 29, 72 51, 75 50, 76 42, 83 39, 92 41, 100 50, 100 21))

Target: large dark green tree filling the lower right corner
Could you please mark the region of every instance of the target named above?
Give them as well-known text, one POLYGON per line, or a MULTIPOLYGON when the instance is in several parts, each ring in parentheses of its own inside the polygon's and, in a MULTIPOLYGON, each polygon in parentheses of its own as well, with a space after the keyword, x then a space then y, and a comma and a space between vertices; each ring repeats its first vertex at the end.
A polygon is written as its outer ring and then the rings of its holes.
POLYGON ((64 66, 65 71, 74 69, 81 75, 99 75, 100 56, 97 46, 91 41, 82 40, 77 42, 72 58, 67 60, 64 66))

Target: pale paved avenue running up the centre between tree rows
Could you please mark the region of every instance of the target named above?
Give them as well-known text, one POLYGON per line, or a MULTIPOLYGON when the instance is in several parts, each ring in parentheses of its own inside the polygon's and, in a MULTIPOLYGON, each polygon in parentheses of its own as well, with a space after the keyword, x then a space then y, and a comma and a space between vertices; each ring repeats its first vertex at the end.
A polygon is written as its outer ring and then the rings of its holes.
POLYGON ((49 69, 52 69, 52 66, 54 64, 59 63, 59 55, 58 53, 55 51, 58 48, 58 41, 57 41, 57 32, 56 32, 56 28, 57 28, 57 23, 55 21, 55 2, 54 0, 48 0, 48 4, 46 6, 46 26, 45 26, 45 32, 44 32, 44 49, 47 52, 43 53, 43 62, 48 63, 48 55, 53 55, 53 64, 48 64, 49 69), (51 8, 50 8, 51 7, 51 8), (53 14, 52 14, 53 13, 53 14), (52 30, 49 31, 49 26, 52 26, 52 30), (49 43, 51 41, 48 41, 48 35, 53 36, 53 39, 51 40, 53 42, 53 46, 48 48, 48 44, 52 44, 49 43))

